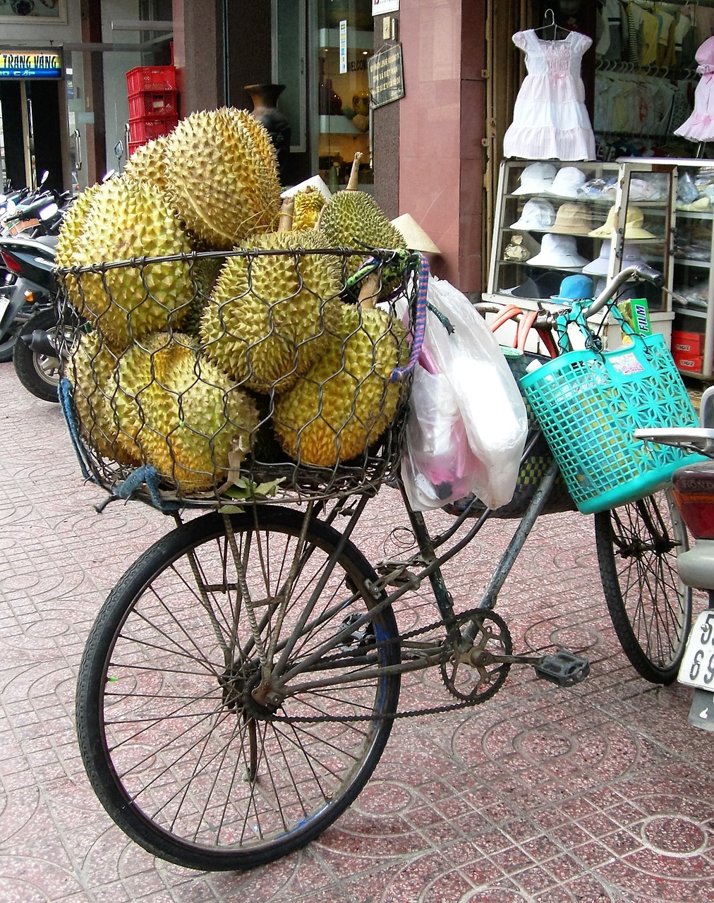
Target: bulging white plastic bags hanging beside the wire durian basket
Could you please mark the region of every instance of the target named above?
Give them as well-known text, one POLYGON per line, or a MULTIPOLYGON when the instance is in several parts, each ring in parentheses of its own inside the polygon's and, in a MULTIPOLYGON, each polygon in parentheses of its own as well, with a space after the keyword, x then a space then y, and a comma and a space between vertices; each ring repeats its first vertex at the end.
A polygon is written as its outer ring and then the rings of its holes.
POLYGON ((424 383, 429 380, 419 368, 415 371, 403 460, 407 496, 419 510, 440 507, 469 492, 488 507, 501 507, 511 500, 520 470, 528 432, 524 400, 496 338, 466 295, 430 276, 427 300, 453 330, 447 330, 436 314, 427 313, 420 359, 431 371, 428 377, 441 378, 438 386, 431 384, 427 391, 424 383), (429 398, 440 399, 439 411, 434 411, 429 398), (434 423, 435 413, 440 417, 434 423), (469 453, 459 442, 459 429, 469 453), (434 433, 440 433, 441 446, 434 433), (451 443, 450 465, 443 454, 444 442, 451 443), (448 480, 440 481, 444 467, 459 490, 450 492, 449 498, 445 497, 448 480), (468 491, 460 491, 467 484, 468 491))

